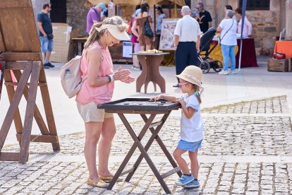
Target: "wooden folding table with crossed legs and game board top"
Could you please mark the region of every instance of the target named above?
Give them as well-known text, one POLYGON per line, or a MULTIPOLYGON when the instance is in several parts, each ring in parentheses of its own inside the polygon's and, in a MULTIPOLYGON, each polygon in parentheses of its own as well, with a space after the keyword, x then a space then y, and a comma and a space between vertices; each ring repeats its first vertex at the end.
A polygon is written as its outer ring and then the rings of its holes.
POLYGON ((125 159, 121 163, 121 166, 116 171, 116 174, 114 175, 114 178, 111 180, 109 187, 107 189, 112 189, 114 187, 114 184, 116 183, 116 180, 121 175, 126 175, 126 182, 129 182, 130 179, 133 177, 135 170, 137 170, 138 166, 140 165, 140 162, 143 158, 145 158, 146 162, 150 166, 152 172, 154 173, 155 177, 157 177, 159 183, 162 185, 162 188, 166 192, 166 194, 171 194, 171 191, 169 190, 169 187, 167 187, 166 183, 164 182, 164 178, 169 177, 170 175, 173 175, 174 173, 178 174, 178 177, 181 177, 181 169, 176 165, 176 162, 174 161, 174 158, 172 158, 169 151, 166 149, 166 146, 162 142, 162 139, 159 137, 159 131, 162 129, 162 126, 166 122, 166 119, 169 117, 169 114, 172 110, 177 110, 181 107, 181 105, 178 102, 167 102, 166 100, 159 100, 158 102, 149 102, 149 99, 146 98, 126 98, 123 100, 116 100, 114 102, 109 102, 107 104, 98 105, 98 108, 104 109, 106 112, 109 113, 117 113, 118 116, 121 118, 121 121, 126 126, 126 129, 128 130, 128 133, 133 138, 133 146, 128 151, 128 154, 126 155, 125 159), (143 121, 145 122, 145 125, 142 127, 139 135, 137 136, 135 132, 133 131, 132 127, 130 126, 128 120, 126 119, 124 114, 140 114, 143 121), (150 114, 149 117, 146 116, 146 114, 150 114), (153 122, 157 114, 164 114, 162 116, 162 119, 159 122, 153 122), (156 128, 154 129, 154 127, 156 128), (142 146, 141 140, 147 130, 150 129, 152 136, 150 136, 150 139, 147 141, 145 146, 142 146), (166 155, 166 158, 168 158, 169 162, 171 163, 172 167, 174 167, 173 170, 170 170, 169 172, 166 172, 162 175, 160 175, 159 171, 155 167, 154 163, 152 162, 150 156, 147 154, 147 150, 152 145, 154 139, 156 139, 157 143, 159 144, 160 148, 162 148, 164 154, 166 155), (138 160, 135 162, 132 168, 130 170, 126 170, 123 172, 123 169, 126 167, 128 161, 130 160, 131 156, 135 152, 135 149, 139 148, 140 155, 138 157, 138 160))

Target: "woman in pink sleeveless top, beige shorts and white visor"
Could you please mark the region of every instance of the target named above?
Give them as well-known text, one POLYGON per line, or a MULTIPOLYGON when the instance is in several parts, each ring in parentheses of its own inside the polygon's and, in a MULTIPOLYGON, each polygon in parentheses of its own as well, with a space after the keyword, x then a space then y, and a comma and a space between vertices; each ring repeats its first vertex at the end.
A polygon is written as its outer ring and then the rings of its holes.
POLYGON ((119 68, 113 71, 113 63, 108 47, 120 40, 130 40, 127 24, 119 16, 106 18, 102 23, 92 25, 85 42, 80 69, 85 80, 76 102, 78 111, 85 122, 85 160, 89 171, 87 184, 93 187, 107 187, 113 175, 109 172, 108 162, 111 141, 116 134, 112 113, 97 109, 97 105, 110 102, 114 92, 114 82, 132 83, 135 78, 130 70, 119 68), (100 138, 100 141, 99 141, 100 138), (97 143, 99 141, 99 165, 96 167, 97 143))

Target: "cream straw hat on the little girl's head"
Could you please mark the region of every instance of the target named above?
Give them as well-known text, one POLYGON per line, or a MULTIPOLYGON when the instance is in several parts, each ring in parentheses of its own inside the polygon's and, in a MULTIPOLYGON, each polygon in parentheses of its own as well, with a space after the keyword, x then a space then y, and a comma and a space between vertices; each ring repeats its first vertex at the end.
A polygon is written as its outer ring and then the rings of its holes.
POLYGON ((176 75, 176 77, 198 85, 199 87, 202 86, 202 70, 197 66, 186 66, 183 72, 176 75))

